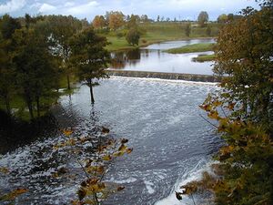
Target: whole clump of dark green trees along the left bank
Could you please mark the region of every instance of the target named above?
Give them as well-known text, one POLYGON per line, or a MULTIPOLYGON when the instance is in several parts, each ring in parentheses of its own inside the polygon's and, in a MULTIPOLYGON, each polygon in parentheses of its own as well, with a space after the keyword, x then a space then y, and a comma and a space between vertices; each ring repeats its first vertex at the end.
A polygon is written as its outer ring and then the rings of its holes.
POLYGON ((71 15, 0 18, 0 101, 8 114, 12 102, 24 100, 31 119, 46 111, 58 97, 61 78, 76 75, 90 87, 106 77, 109 54, 106 37, 97 36, 86 20, 71 15))

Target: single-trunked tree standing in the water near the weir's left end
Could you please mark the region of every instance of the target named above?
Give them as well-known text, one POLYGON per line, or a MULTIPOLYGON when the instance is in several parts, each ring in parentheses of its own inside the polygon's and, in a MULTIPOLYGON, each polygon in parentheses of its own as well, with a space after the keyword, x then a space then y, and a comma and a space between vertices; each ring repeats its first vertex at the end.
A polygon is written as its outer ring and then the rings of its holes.
POLYGON ((86 28, 76 34, 71 42, 72 62, 78 68, 78 76, 90 88, 91 103, 95 103, 93 87, 98 83, 94 79, 107 77, 105 68, 109 62, 109 53, 105 46, 106 37, 97 36, 92 28, 86 28))

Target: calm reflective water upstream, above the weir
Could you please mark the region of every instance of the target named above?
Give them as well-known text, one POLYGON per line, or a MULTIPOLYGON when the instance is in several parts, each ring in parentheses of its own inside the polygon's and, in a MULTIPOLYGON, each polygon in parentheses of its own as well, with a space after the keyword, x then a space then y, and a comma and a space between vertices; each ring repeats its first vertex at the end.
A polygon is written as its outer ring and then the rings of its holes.
POLYGON ((110 68, 155 71, 167 73, 212 74, 212 62, 197 63, 192 58, 212 52, 168 54, 164 50, 179 46, 198 43, 213 43, 214 39, 192 39, 183 41, 168 41, 143 47, 139 50, 129 50, 112 54, 114 62, 110 68))

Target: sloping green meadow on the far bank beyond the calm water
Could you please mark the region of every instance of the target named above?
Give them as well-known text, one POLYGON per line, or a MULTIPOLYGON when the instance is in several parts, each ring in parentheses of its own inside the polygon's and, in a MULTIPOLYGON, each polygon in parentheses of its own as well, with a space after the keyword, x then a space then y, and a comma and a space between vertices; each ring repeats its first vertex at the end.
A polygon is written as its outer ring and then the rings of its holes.
MULTIPOLYGON (((181 22, 154 22, 140 24, 138 26, 143 31, 143 35, 139 40, 139 46, 148 46, 158 42, 171 40, 213 37, 217 36, 219 30, 219 25, 211 24, 211 35, 207 36, 207 27, 198 27, 192 24, 190 36, 186 36, 186 24, 181 22)), ((105 35, 111 43, 106 46, 107 50, 116 51, 134 48, 134 46, 130 46, 126 42, 125 36, 117 36, 118 33, 122 33, 122 31, 109 32, 105 35)))

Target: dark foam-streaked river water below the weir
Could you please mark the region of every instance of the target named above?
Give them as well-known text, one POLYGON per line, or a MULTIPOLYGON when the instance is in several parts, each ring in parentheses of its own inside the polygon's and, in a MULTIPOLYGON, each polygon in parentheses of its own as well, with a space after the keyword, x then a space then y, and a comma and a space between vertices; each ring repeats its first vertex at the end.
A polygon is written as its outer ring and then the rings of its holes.
MULTIPOLYGON (((54 108, 59 126, 70 126, 76 135, 87 135, 96 126, 110 128, 115 138, 128 138, 134 151, 116 159, 107 181, 126 190, 105 204, 187 204, 174 190, 207 168, 220 142, 198 108, 216 87, 183 81, 116 77, 95 88, 96 104, 90 105, 89 89, 80 87, 71 97, 61 97, 54 108)), ((40 138, 9 152, 0 166, 10 169, 0 175, 0 190, 24 187, 29 191, 17 204, 64 204, 75 199, 79 180, 53 179, 54 170, 66 167, 82 174, 66 151, 53 151, 59 136, 40 138), (65 197, 64 197, 65 196, 65 197)))

